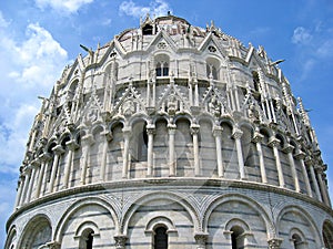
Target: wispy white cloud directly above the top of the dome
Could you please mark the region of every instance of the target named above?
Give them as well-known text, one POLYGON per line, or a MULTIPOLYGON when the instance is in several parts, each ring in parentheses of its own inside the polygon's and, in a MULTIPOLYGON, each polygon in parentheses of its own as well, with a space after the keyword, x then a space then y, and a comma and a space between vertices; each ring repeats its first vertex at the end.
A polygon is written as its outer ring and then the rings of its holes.
POLYGON ((144 17, 147 13, 154 14, 157 17, 165 15, 168 11, 171 11, 168 2, 163 0, 151 1, 149 6, 138 6, 132 0, 123 1, 119 11, 121 14, 131 15, 134 18, 144 17))

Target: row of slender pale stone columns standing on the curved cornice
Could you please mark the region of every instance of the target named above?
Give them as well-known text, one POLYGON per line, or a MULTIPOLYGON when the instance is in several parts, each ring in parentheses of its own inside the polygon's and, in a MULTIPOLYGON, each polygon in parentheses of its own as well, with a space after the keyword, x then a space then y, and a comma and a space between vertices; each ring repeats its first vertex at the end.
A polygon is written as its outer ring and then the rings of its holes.
MULTIPOLYGON (((155 125, 154 124, 148 124, 145 126, 147 134, 148 134, 148 143, 147 143, 147 173, 145 177, 153 177, 154 176, 154 156, 153 156, 153 146, 154 146, 154 134, 155 134, 155 125)), ((175 152, 175 133, 176 133, 176 124, 168 124, 168 165, 169 165, 169 176, 174 177, 178 176, 178 167, 176 167, 176 152, 175 152)), ((200 133, 200 125, 199 124, 191 124, 189 127, 191 135, 192 135, 192 152, 193 152, 193 172, 194 176, 201 177, 201 164, 200 164, 200 141, 199 141, 199 133, 200 133)), ((220 125, 214 125, 212 128, 212 135, 214 137, 214 146, 216 149, 216 172, 218 177, 223 178, 225 174, 225 162, 223 160, 223 146, 222 141, 225 139, 225 137, 222 137, 222 131, 223 127, 220 125)), ((108 144, 112 138, 112 135, 110 132, 102 132, 102 135, 105 136, 104 144, 102 146, 101 152, 101 162, 100 162, 100 176, 99 180, 101 183, 105 181, 105 173, 108 170, 107 162, 108 162, 108 144)), ((121 169, 121 177, 127 179, 130 178, 130 139, 133 134, 133 131, 130 126, 124 126, 122 128, 123 134, 123 147, 122 147, 122 169, 121 169)), ((238 170, 239 170, 239 179, 238 180, 249 180, 245 173, 245 165, 244 165, 244 158, 243 158, 243 152, 242 152, 242 135, 243 132, 239 127, 233 127, 231 137, 234 139, 234 149, 236 152, 236 159, 238 159, 238 170)), ((263 143, 263 135, 255 131, 252 136, 252 143, 255 144, 256 148, 256 155, 259 159, 259 168, 260 168, 260 178, 262 184, 269 184, 268 180, 268 173, 266 173, 266 166, 265 166, 265 157, 264 152, 262 148, 263 143)), ((80 185, 87 184, 87 177, 88 177, 88 167, 91 167, 89 165, 89 154, 90 154, 90 146, 93 144, 93 135, 88 134, 81 137, 81 145, 79 145, 74 139, 70 139, 65 142, 65 148, 68 148, 65 163, 64 163, 64 169, 63 169, 63 176, 62 176, 62 189, 69 188, 69 179, 70 174, 73 170, 73 155, 75 149, 78 149, 81 146, 82 149, 82 156, 80 159, 80 185)), ((278 172, 278 180, 279 180, 279 187, 285 188, 285 179, 284 179, 284 173, 281 165, 281 158, 280 154, 285 153, 287 156, 289 166, 291 167, 291 174, 293 178, 293 186, 294 191, 301 193, 304 191, 304 189, 301 189, 300 186, 300 178, 299 173, 296 170, 295 166, 295 159, 300 162, 301 165, 301 172, 302 177, 304 179, 305 184, 305 191, 304 194, 309 195, 310 197, 314 197, 312 193, 312 187, 310 181, 312 181, 313 190, 315 193, 315 198, 317 198, 320 201, 323 201, 327 206, 331 206, 330 198, 327 195, 327 189, 325 186, 324 180, 322 179, 322 167, 321 166, 314 166, 314 162, 310 158, 305 158, 305 153, 301 152, 300 149, 295 149, 294 146, 286 144, 282 149, 279 148, 280 139, 278 139, 275 136, 271 136, 269 138, 268 145, 273 151, 275 167, 278 172), (296 154, 293 154, 293 152, 296 152, 296 154), (306 167, 309 168, 309 173, 306 170, 306 167)), ((54 184, 56 178, 59 176, 59 164, 60 158, 62 155, 64 155, 65 149, 62 145, 58 144, 54 147, 52 147, 52 154, 50 153, 42 153, 40 156, 38 156, 36 159, 31 162, 31 164, 24 168, 22 172, 20 179, 19 179, 19 187, 18 187, 18 195, 16 200, 16 207, 20 207, 33 199, 40 198, 42 195, 46 194, 52 194, 56 191, 54 184), (52 158, 53 157, 53 158, 52 158), (52 158, 52 160, 51 160, 52 158), (49 173, 48 173, 49 170, 49 173), (49 174, 49 175, 48 175, 49 174), (49 178, 49 179, 47 179, 49 178), (33 195, 32 195, 33 194, 33 195)), ((97 181, 99 181, 97 180, 97 181)), ((60 189, 59 189, 60 190, 60 189)))

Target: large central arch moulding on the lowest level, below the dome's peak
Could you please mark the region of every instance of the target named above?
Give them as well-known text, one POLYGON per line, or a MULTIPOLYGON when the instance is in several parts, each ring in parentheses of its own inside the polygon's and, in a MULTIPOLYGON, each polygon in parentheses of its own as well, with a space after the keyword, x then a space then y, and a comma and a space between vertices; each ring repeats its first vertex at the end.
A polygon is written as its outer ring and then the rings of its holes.
POLYGON ((121 222, 122 232, 127 235, 130 219, 134 215, 134 212, 140 208, 141 205, 158 199, 167 199, 167 200, 175 201, 176 204, 181 205, 190 215, 192 219, 191 221, 193 222, 194 226, 194 230, 198 230, 200 228, 200 222, 198 219, 199 216, 194 207, 185 199, 184 196, 180 196, 169 191, 159 191, 159 193, 151 191, 151 193, 144 193, 132 200, 132 204, 128 207, 124 214, 124 218, 122 219, 121 222))

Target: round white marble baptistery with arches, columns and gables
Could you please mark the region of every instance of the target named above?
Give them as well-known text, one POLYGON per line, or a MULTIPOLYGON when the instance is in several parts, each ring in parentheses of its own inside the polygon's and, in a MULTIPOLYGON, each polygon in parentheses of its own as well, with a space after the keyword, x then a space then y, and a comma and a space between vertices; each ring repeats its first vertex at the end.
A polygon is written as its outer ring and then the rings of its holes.
POLYGON ((333 249, 283 60, 172 14, 81 48, 41 97, 6 249, 333 249))

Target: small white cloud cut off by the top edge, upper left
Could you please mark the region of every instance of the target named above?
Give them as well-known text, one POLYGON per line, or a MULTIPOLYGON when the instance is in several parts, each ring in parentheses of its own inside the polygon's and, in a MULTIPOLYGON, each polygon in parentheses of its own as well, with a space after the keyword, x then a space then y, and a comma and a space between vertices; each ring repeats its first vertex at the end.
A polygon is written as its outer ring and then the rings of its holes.
POLYGON ((67 13, 77 12, 82 6, 91 2, 93 0, 36 0, 36 4, 40 9, 51 7, 57 11, 64 11, 67 13))

